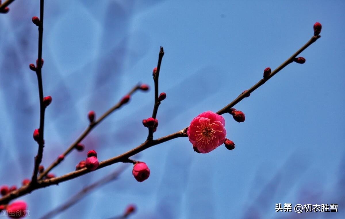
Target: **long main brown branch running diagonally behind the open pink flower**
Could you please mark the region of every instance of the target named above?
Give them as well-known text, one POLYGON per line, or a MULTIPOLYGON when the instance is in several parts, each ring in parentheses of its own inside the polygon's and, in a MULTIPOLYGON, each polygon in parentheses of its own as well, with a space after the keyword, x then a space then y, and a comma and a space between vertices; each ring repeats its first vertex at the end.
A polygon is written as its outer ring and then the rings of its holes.
MULTIPOLYGON (((296 57, 299 53, 301 53, 304 49, 306 49, 308 46, 310 46, 311 44, 313 44, 317 39, 319 38, 319 36, 313 36, 308 43, 306 43, 302 48, 300 48, 292 57, 290 57, 289 59, 287 59, 285 62, 283 62, 282 65, 280 65, 277 69, 275 69, 273 72, 271 72, 269 78, 273 77, 274 74, 276 74, 278 71, 280 71, 281 69, 283 69, 285 66, 287 66, 289 63, 291 63, 291 60, 293 59, 293 57, 296 57)), ((261 80, 260 80, 261 81, 261 80)), ((250 88, 247 92, 244 92, 243 94, 241 94, 239 97, 237 97, 233 102, 231 102, 230 104, 228 104, 227 106, 225 106, 223 109, 221 109, 220 111, 218 111, 218 114, 224 114, 227 112, 227 110, 230 107, 233 107, 235 104, 237 104, 239 101, 243 100, 244 97, 253 92, 255 89, 257 89, 258 87, 260 87, 260 85, 262 85, 261 83, 263 82, 258 82, 257 84, 255 84, 252 88, 250 88)), ((121 155, 118 155, 117 157, 114 158, 110 158, 108 160, 102 161, 100 162, 99 166, 97 169, 101 169, 105 166, 114 164, 114 163, 118 163, 118 162, 123 162, 124 160, 128 159, 129 157, 149 148, 152 147, 154 145, 158 145, 160 143, 178 138, 178 137, 187 137, 187 128, 184 128, 180 131, 177 131, 173 134, 167 135, 165 137, 156 139, 156 140, 146 140, 144 143, 142 143, 141 145, 139 145, 138 147, 129 150, 121 155)), ((20 197, 22 195, 28 194, 30 192, 32 192, 33 190, 39 189, 39 188, 43 188, 46 186, 50 186, 50 185, 54 185, 54 184, 59 184, 61 182, 65 182, 68 180, 71 180, 73 178, 76 178, 78 176, 84 175, 86 173, 91 172, 90 170, 83 168, 81 170, 77 170, 74 172, 70 172, 67 173, 63 176, 59 176, 59 177, 55 177, 55 178, 50 178, 50 179, 46 179, 46 180, 41 180, 38 181, 38 183, 35 186, 22 186, 19 189, 17 189, 16 191, 13 191, 5 196, 3 196, 2 198, 0 198, 0 205, 1 204, 6 204, 8 203, 10 200, 20 197)))

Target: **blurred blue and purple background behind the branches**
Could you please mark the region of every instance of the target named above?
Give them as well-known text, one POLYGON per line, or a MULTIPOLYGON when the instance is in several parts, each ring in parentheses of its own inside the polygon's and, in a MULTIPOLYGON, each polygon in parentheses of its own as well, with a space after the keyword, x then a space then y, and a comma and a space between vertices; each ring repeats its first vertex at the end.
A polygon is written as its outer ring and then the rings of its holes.
MULTIPOLYGON (((155 137, 181 130, 204 111, 218 111, 275 69, 323 26, 321 38, 224 115, 224 145, 207 154, 188 138, 140 153, 151 174, 139 183, 132 165, 119 179, 56 218, 109 218, 128 204, 131 218, 345 218, 344 1, 133 1, 45 2, 42 68, 46 110, 42 164, 48 166, 87 127, 136 83, 153 88, 159 46, 162 61, 155 137), (338 212, 275 212, 276 203, 338 204, 338 212)), ((0 14, 0 184, 20 186, 32 174, 39 126, 38 31, 32 16, 39 1, 17 0, 0 14)), ((144 142, 154 91, 137 92, 109 116, 52 172, 63 175, 94 149, 106 160, 144 142)), ((76 180, 21 197, 39 218, 83 187, 116 170, 115 164, 76 180)))

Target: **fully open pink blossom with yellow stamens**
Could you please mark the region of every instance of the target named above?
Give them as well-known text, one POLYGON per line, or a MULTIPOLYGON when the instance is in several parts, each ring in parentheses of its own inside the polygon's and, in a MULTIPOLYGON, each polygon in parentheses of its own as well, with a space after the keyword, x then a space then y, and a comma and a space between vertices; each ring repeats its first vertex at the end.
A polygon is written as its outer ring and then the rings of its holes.
POLYGON ((223 116, 207 111, 199 114, 191 122, 187 130, 189 141, 194 150, 208 153, 225 141, 226 130, 223 116))

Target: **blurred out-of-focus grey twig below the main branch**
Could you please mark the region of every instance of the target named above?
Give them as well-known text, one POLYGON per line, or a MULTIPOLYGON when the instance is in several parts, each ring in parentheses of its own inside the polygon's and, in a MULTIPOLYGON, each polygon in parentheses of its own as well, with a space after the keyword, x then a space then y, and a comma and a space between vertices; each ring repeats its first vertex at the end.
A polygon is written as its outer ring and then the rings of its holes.
POLYGON ((103 177, 100 180, 98 180, 97 182, 92 183, 91 185, 83 188, 80 192, 78 192, 73 197, 71 197, 66 203, 64 203, 64 204, 60 205, 59 207, 51 210, 45 216, 41 217, 41 219, 49 219, 49 218, 53 218, 53 217, 57 216, 58 214, 62 213, 64 210, 67 210, 68 208, 70 208, 73 205, 75 205, 76 203, 78 203, 78 201, 80 201, 86 195, 88 195, 89 193, 94 191, 96 188, 99 188, 102 185, 105 185, 111 181, 116 180, 119 177, 119 175, 122 172, 124 172, 124 170, 126 168, 127 168, 127 165, 124 164, 124 165, 120 166, 120 168, 115 170, 114 172, 107 175, 106 177, 103 177))

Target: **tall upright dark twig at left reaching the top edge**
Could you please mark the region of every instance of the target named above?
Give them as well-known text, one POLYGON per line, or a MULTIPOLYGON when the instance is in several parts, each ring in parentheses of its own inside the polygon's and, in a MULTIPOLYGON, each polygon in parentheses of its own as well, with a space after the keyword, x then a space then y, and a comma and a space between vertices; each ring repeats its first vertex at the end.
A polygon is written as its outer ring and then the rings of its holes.
POLYGON ((39 128, 39 140, 38 140, 38 152, 35 157, 35 164, 33 168, 33 174, 31 183, 34 185, 37 182, 38 167, 42 161, 43 157, 43 147, 44 147, 44 114, 46 107, 43 105, 43 85, 42 85, 42 41, 43 41, 43 9, 44 0, 40 0, 40 24, 38 26, 38 61, 36 67, 37 81, 38 81, 38 91, 40 98, 40 128, 39 128))

